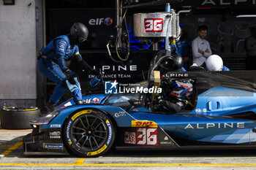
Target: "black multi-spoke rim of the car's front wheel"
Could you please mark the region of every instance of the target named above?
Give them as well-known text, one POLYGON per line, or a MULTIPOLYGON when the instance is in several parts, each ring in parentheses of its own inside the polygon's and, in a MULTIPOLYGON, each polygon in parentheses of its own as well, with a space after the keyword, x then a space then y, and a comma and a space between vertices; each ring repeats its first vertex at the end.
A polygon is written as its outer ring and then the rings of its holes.
POLYGON ((78 150, 94 151, 108 139, 108 128, 104 120, 94 115, 82 115, 72 124, 70 137, 78 150))

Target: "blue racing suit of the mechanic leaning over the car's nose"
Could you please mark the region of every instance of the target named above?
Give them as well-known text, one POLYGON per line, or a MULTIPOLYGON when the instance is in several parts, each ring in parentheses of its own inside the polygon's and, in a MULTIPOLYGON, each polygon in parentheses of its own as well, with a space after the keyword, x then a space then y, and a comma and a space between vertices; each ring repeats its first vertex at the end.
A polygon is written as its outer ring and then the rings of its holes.
MULTIPOLYGON (((69 60, 72 55, 82 58, 79 54, 78 45, 71 45, 69 35, 67 34, 53 39, 41 52, 42 56, 46 56, 46 58, 38 58, 39 71, 48 79, 57 83, 53 94, 50 96, 50 101, 58 103, 66 87, 71 91, 74 101, 82 100, 80 83, 77 78, 74 78, 75 85, 71 85, 67 81, 66 74, 64 74, 64 71, 68 69, 64 60, 69 60)), ((75 74, 72 71, 69 72, 72 75, 75 74)))

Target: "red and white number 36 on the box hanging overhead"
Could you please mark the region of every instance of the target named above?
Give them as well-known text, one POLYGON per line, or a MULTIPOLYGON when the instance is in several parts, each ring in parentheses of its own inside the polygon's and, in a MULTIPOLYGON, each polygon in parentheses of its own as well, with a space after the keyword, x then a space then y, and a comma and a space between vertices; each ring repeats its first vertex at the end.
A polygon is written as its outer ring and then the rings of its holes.
POLYGON ((145 32, 162 32, 163 19, 162 18, 145 18, 144 31, 145 32))

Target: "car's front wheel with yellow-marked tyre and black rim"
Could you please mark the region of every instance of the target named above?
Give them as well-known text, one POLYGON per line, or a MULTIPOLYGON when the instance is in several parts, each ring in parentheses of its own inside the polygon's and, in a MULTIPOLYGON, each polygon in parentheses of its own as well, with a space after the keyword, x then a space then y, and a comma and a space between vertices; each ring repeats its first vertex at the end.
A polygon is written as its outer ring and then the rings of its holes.
POLYGON ((115 136, 110 118, 95 109, 75 112, 64 125, 65 144, 76 155, 83 157, 97 157, 107 152, 115 136))

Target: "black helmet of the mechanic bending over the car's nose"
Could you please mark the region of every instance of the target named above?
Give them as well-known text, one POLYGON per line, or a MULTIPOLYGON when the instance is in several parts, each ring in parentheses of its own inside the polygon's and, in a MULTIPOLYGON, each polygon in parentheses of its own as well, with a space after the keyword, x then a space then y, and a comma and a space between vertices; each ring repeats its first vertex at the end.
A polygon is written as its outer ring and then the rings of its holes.
POLYGON ((74 23, 70 28, 70 34, 75 43, 78 44, 86 41, 89 31, 83 23, 74 23))

